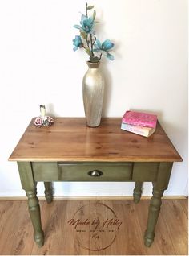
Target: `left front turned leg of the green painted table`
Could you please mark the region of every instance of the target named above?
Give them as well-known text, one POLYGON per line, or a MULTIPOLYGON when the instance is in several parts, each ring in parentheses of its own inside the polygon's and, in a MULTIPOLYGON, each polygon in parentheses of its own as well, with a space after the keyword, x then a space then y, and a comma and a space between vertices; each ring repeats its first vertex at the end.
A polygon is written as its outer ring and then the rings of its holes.
POLYGON ((34 240, 38 247, 44 244, 44 233, 42 231, 41 213, 38 204, 36 182, 34 181, 34 174, 30 162, 18 162, 18 170, 22 188, 26 191, 28 198, 28 208, 30 219, 34 227, 34 240))

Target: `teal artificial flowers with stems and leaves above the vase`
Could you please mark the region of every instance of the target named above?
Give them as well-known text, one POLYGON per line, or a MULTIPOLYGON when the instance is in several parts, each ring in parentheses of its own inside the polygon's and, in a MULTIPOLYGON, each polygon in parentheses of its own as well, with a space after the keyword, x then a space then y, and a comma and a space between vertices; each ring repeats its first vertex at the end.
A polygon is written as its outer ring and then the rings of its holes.
POLYGON ((90 62, 99 62, 104 55, 109 60, 114 60, 114 56, 109 52, 114 43, 107 39, 103 43, 95 36, 94 25, 96 11, 93 10, 92 16, 88 16, 88 10, 92 10, 94 6, 88 6, 86 2, 86 15, 82 14, 80 25, 74 25, 80 32, 80 35, 75 35, 73 39, 74 51, 78 48, 84 48, 85 52, 90 56, 90 62))

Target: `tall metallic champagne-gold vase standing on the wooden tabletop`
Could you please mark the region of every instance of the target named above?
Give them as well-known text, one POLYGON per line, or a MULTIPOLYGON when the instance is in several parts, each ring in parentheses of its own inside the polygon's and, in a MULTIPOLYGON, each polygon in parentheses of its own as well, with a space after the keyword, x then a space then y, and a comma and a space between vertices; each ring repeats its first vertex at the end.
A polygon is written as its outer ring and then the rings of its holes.
POLYGON ((86 115, 86 125, 100 125, 103 110, 104 78, 99 70, 99 62, 87 61, 88 70, 82 80, 82 97, 86 115))

